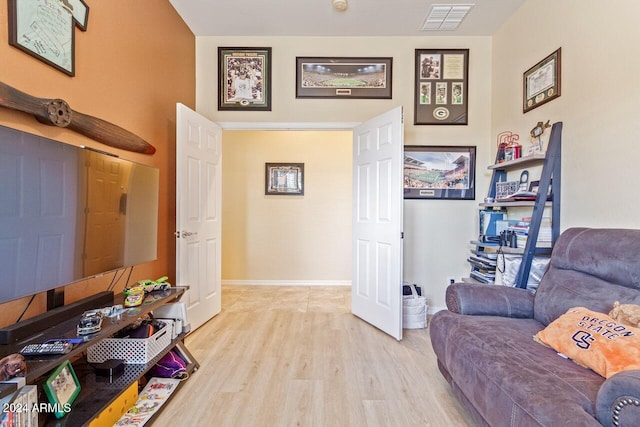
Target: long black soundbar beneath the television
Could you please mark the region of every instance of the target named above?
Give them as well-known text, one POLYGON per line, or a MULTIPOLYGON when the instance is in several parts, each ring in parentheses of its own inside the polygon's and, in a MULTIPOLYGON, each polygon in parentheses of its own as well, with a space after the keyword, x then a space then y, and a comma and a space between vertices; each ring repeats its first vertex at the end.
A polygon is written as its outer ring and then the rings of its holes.
MULTIPOLYGON (((54 308, 45 313, 22 320, 10 326, 0 329, 0 344, 15 343, 43 331, 51 325, 62 323, 73 316, 78 316, 92 308, 100 308, 113 305, 113 292, 104 291, 81 299, 71 304, 54 308)), ((0 347, 0 352, 4 353, 0 347)))

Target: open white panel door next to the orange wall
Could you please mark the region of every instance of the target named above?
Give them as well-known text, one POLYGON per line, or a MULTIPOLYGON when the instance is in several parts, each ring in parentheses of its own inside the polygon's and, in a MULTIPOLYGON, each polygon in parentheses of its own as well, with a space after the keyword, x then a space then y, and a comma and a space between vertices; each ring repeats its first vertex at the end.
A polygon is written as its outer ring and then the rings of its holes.
POLYGON ((176 284, 194 330, 222 302, 222 128, 180 103, 176 114, 176 284))

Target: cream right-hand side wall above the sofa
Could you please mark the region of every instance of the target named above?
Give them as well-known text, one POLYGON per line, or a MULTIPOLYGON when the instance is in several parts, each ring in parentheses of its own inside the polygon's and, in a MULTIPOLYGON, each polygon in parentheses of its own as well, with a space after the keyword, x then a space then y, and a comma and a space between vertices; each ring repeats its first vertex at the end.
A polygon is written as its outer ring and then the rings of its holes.
POLYGON ((528 0, 493 40, 491 134, 562 121, 561 229, 640 228, 640 2, 528 0), (559 98, 522 113, 522 73, 562 48, 559 98))

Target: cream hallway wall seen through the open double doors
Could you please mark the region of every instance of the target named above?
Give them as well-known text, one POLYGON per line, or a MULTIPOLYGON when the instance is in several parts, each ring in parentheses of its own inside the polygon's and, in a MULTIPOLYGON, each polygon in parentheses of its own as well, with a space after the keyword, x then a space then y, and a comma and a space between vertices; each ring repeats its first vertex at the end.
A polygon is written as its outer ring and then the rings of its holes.
POLYGON ((350 285, 352 135, 223 131, 223 284, 350 285), (279 162, 304 163, 303 196, 265 195, 279 162))

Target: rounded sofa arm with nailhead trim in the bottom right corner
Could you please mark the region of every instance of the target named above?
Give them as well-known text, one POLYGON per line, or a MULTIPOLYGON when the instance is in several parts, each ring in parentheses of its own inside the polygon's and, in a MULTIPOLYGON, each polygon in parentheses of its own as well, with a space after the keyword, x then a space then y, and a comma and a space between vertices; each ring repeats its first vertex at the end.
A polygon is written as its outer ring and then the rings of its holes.
POLYGON ((606 427, 640 425, 640 370, 618 372, 600 386, 596 416, 606 427))

